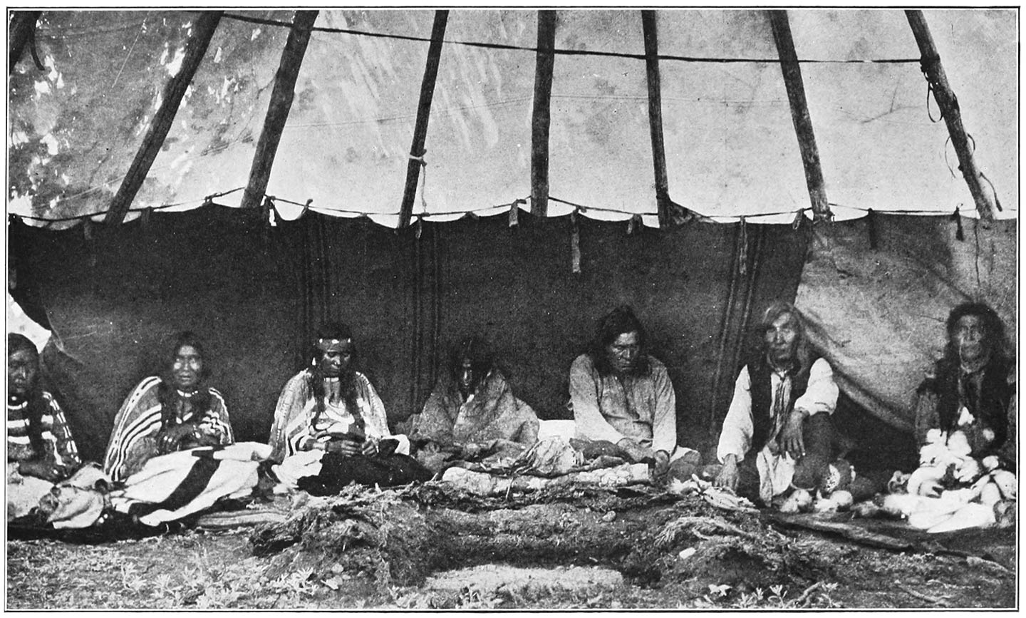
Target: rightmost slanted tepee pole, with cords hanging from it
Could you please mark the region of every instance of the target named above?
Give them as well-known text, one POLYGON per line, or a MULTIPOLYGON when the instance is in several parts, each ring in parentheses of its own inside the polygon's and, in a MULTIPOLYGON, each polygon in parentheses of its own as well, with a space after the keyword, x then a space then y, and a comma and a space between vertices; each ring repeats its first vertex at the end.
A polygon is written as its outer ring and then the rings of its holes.
POLYGON ((958 155, 958 168, 961 169, 962 178, 969 185, 969 191, 973 194, 973 201, 976 202, 976 210, 980 218, 986 221, 994 219, 994 202, 990 200, 983 190, 980 182, 980 170, 973 159, 973 151, 969 146, 969 139, 965 137, 965 127, 961 122, 961 111, 958 109, 958 99, 951 91, 948 83, 948 76, 944 73, 941 65, 941 56, 937 53, 934 45, 934 37, 930 34, 926 26, 926 18, 921 10, 906 10, 908 25, 915 35, 915 42, 919 46, 921 55, 922 71, 926 74, 926 79, 934 90, 934 99, 941 108, 944 115, 944 123, 948 125, 948 134, 951 137, 951 145, 958 155))

